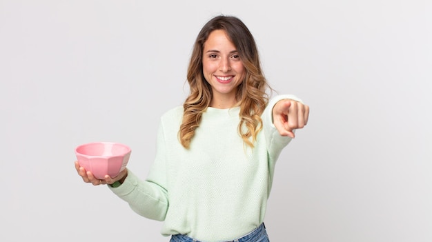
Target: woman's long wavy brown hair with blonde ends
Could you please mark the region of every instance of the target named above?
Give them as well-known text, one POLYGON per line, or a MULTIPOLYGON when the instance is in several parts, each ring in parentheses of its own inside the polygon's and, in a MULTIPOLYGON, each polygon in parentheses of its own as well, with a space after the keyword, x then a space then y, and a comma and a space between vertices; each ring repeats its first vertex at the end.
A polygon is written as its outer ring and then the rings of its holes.
POLYGON ((204 43, 214 30, 224 30, 228 39, 233 42, 246 74, 237 88, 236 106, 240 106, 239 135, 244 143, 251 148, 262 129, 261 114, 268 103, 267 90, 272 90, 262 72, 257 45, 253 35, 246 25, 237 17, 220 15, 210 19, 199 32, 188 66, 187 81, 190 94, 184 101, 183 120, 179 130, 179 140, 184 148, 190 147, 190 141, 195 135, 202 120, 202 114, 210 105, 213 97, 210 84, 204 79, 202 72, 204 43))

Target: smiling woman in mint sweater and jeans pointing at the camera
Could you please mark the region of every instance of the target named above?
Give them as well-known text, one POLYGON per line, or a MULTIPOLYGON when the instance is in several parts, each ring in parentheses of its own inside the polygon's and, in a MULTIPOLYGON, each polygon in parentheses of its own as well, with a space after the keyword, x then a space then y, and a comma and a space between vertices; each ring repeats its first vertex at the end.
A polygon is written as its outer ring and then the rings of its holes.
POLYGON ((275 162, 308 121, 291 95, 268 100, 255 40, 237 17, 210 19, 188 68, 190 94, 162 117, 157 152, 142 181, 126 169, 109 184, 135 212, 164 221, 171 241, 268 241, 264 227, 275 162))

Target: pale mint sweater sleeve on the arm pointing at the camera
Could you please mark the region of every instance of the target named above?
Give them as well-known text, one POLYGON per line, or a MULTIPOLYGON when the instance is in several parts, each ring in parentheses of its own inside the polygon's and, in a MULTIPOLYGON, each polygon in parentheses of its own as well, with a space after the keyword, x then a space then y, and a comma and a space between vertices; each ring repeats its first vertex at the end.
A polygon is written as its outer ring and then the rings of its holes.
POLYGON ((268 159, 271 163, 276 162, 279 154, 282 152, 282 149, 291 141, 290 137, 281 136, 273 124, 273 107, 278 101, 282 99, 291 99, 302 103, 302 100, 291 94, 277 95, 268 102, 268 105, 262 114, 262 120, 264 124, 264 134, 266 137, 268 159))

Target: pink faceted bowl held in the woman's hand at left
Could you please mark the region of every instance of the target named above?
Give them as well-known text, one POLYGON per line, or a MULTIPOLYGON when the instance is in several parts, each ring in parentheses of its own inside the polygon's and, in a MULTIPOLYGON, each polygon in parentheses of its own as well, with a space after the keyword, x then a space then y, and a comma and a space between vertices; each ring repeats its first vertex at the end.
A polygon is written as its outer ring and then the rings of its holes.
POLYGON ((126 168, 130 157, 128 145, 114 142, 85 143, 75 148, 80 166, 92 172, 97 179, 117 175, 126 168))

